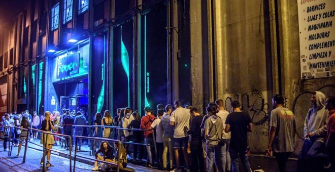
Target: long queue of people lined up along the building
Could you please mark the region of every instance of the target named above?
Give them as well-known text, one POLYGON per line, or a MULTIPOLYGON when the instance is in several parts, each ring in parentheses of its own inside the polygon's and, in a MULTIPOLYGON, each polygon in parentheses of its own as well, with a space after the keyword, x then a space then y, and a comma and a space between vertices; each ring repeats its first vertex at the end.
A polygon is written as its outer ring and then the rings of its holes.
MULTIPOLYGON (((335 97, 326 96, 321 92, 313 92, 311 97, 313 107, 309 109, 304 123, 304 145, 300 151, 298 171, 322 171, 330 169, 335 171, 335 97)), ((286 171, 285 165, 295 150, 295 133, 297 132, 296 118, 293 112, 284 107, 284 98, 275 95, 272 99, 273 110, 269 122, 269 141, 267 153, 276 157, 279 171, 286 171)), ((138 111, 132 112, 129 107, 117 109, 112 117, 106 110, 102 116, 96 113, 94 117, 93 137, 119 139, 123 142, 145 143, 147 161, 146 166, 157 166, 162 170, 182 171, 184 163, 186 171, 240 171, 239 160, 245 171, 252 171, 247 155, 248 132, 252 132, 253 125, 250 115, 243 112, 239 101, 230 103, 231 111, 224 109, 222 99, 209 103, 206 107, 206 115, 202 115, 197 108, 182 107, 182 102, 176 100, 173 105, 165 107, 157 105, 157 111, 150 107, 143 109, 145 115, 141 118, 138 111), (115 130, 118 126, 124 129, 115 130), (132 131, 132 128, 142 131, 132 131), (157 151, 154 150, 156 146, 157 151), (156 153, 156 154, 155 154, 156 153), (169 155, 169 156, 168 156, 169 155), (175 166, 176 165, 176 166, 175 166)), ((13 132, 12 136, 18 141, 20 154, 22 142, 25 141, 27 128, 39 128, 46 131, 41 137, 41 143, 52 149, 56 144, 54 137, 48 133, 59 132, 71 135, 72 125, 87 125, 87 118, 78 111, 73 116, 70 110, 65 109, 63 114, 57 112, 45 112, 39 118, 36 112, 29 119, 29 115, 4 115, 3 125, 19 126, 19 132, 5 128, 4 132, 13 132), (57 130, 58 128, 58 130, 57 130), (61 130, 60 130, 61 129, 61 130), (18 136, 16 136, 18 135, 18 136)), ((83 135, 83 127, 75 127, 74 137, 83 135)), ((31 139, 37 139, 37 133, 31 133, 31 139)), ((69 141, 59 144, 69 148, 69 141)), ((6 138, 5 138, 6 141, 6 138)), ((8 141, 8 140, 7 140, 8 141)), ((81 141, 80 141, 81 143, 81 141)), ((144 149, 140 145, 118 144, 112 146, 109 142, 95 142, 98 150, 93 148, 95 158, 111 162, 112 164, 100 164, 95 161, 92 170, 99 167, 121 168, 127 166, 130 157, 134 162, 142 161, 145 156, 144 149), (120 162, 117 155, 120 152, 120 162)), ((80 150, 79 144, 78 150, 80 150)), ((4 142, 4 150, 8 150, 4 142)), ((50 163, 50 151, 46 150, 46 166, 50 163)), ((45 157, 41 159, 44 163, 45 157)))

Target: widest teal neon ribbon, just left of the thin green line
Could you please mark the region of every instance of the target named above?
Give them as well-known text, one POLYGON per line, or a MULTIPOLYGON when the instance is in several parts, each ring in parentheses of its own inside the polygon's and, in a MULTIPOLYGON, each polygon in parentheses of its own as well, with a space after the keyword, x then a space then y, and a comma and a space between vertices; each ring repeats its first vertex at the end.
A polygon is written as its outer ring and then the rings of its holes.
POLYGON ((129 86, 129 55, 127 49, 125 48, 122 40, 122 26, 121 26, 121 63, 124 69, 124 72, 127 75, 128 79, 128 106, 130 106, 130 86, 129 86))

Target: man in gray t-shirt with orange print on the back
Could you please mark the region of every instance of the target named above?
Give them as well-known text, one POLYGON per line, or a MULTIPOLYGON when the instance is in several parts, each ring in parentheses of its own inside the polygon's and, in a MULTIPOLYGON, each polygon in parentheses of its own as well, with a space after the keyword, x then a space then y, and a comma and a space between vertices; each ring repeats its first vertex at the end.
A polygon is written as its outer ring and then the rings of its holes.
POLYGON ((296 122, 292 111, 283 107, 284 98, 275 95, 272 98, 274 110, 271 111, 268 152, 274 152, 279 171, 285 171, 285 163, 294 151, 296 122))

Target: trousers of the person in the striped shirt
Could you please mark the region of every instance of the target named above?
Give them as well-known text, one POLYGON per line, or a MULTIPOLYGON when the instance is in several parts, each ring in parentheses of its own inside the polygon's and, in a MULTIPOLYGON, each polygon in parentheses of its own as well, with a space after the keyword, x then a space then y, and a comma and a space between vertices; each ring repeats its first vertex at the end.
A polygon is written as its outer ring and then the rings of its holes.
POLYGON ((168 155, 168 150, 169 150, 169 154, 170 154, 170 168, 173 168, 173 159, 175 158, 175 153, 174 153, 174 149, 173 149, 173 136, 164 136, 163 135, 163 168, 166 168, 166 162, 168 161, 168 157, 166 157, 168 155))

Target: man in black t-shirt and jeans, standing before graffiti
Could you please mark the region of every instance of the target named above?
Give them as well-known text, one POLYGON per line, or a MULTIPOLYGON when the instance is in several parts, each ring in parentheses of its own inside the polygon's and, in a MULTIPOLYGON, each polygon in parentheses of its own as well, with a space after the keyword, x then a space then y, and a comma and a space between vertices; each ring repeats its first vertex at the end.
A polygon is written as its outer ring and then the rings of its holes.
POLYGON ((239 156, 243 162, 245 171, 252 171, 250 168, 247 146, 248 134, 252 131, 251 118, 248 113, 242 112, 238 101, 231 102, 232 113, 227 116, 224 132, 231 132, 229 154, 232 161, 232 171, 239 171, 239 156))

